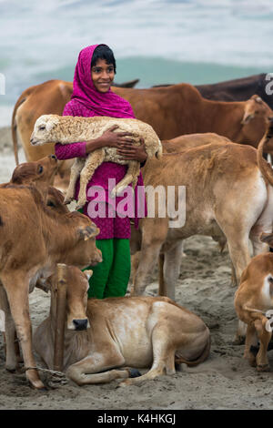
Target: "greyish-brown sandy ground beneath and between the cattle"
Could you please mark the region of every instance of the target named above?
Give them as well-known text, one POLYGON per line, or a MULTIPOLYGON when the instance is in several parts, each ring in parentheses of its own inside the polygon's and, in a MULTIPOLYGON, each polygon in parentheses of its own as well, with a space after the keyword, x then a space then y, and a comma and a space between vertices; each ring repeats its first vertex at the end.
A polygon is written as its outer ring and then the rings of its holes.
MULTIPOLYGON (((0 180, 7 181, 15 160, 9 128, 0 129, 0 180)), ((23 159, 22 151, 20 158, 23 159)), ((185 243, 177 302, 194 311, 211 331, 210 356, 195 368, 139 386, 118 388, 117 382, 78 387, 73 382, 48 391, 34 391, 21 373, 5 371, 0 335, 0 409, 270 409, 273 372, 258 373, 243 360, 244 346, 232 340, 237 329, 227 251, 219 252, 210 238, 195 236, 185 243)), ((151 274, 147 294, 157 295, 157 271, 151 274)), ((50 297, 42 290, 30 295, 33 328, 45 319, 50 297)), ((37 358, 37 356, 35 356, 37 358)), ((269 353, 273 369, 273 356, 269 353)), ((40 364, 37 358, 37 363, 40 364)), ((141 371, 145 372, 145 371, 141 371)))

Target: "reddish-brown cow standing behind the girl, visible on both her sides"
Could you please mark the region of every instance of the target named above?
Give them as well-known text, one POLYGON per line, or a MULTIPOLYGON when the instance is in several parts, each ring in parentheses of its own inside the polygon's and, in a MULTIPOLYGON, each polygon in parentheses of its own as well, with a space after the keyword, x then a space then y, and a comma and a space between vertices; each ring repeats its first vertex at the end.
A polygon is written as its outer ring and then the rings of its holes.
MULTIPOLYGON (((132 105, 136 118, 151 125, 160 139, 176 138, 183 134, 215 132, 234 142, 258 146, 266 129, 266 118, 272 110, 258 96, 248 101, 223 102, 207 100, 195 87, 179 84, 170 87, 134 89, 112 87, 132 105)), ((26 89, 18 98, 12 120, 15 158, 17 134, 27 160, 36 160, 54 153, 53 146, 30 146, 35 120, 44 114, 62 115, 71 95, 71 83, 50 80, 26 89)), ((71 160, 71 159, 70 159, 71 160)), ((72 165, 64 161, 59 173, 72 165)))

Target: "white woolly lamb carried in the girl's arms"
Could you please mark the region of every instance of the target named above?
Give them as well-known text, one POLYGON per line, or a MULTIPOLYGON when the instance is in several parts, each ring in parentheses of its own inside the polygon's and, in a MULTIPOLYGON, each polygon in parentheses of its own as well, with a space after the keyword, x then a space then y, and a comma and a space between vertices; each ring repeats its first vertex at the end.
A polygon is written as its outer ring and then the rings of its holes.
MULTIPOLYGON (((41 146, 45 143, 69 144, 76 141, 86 141, 101 137, 106 129, 114 125, 118 126, 116 132, 131 133, 132 136, 130 138, 135 140, 136 146, 141 144, 140 138, 143 138, 147 158, 152 158, 154 155, 157 158, 161 157, 162 146, 154 129, 147 125, 147 123, 131 118, 43 115, 38 117, 35 122, 30 142, 33 146, 41 146)), ((76 208, 82 208, 86 204, 87 183, 93 176, 96 168, 102 162, 106 161, 128 165, 126 176, 112 190, 112 197, 120 195, 130 183, 135 188, 140 163, 136 160, 121 160, 116 153, 116 148, 97 148, 86 159, 76 158, 71 168, 71 177, 65 203, 69 203, 75 198, 76 179, 80 175, 80 190, 76 208)))

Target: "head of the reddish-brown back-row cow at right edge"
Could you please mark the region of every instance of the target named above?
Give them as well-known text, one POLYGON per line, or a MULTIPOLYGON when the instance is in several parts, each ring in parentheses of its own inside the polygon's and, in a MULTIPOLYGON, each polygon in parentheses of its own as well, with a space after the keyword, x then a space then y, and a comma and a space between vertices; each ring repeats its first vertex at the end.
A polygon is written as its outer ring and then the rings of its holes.
POLYGON ((267 130, 268 117, 273 117, 273 111, 258 95, 245 101, 244 106, 237 142, 258 147, 258 142, 267 130))

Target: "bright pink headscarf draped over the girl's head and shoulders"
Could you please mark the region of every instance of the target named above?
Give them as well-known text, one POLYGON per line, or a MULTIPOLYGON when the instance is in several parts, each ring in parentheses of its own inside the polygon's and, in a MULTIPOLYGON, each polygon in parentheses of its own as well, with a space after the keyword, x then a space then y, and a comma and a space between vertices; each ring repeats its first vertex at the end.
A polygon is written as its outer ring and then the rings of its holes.
POLYGON ((91 110, 90 116, 135 118, 128 101, 116 95, 111 89, 104 94, 96 90, 91 77, 91 61, 96 46, 100 45, 87 46, 79 53, 71 99, 76 99, 91 110))

